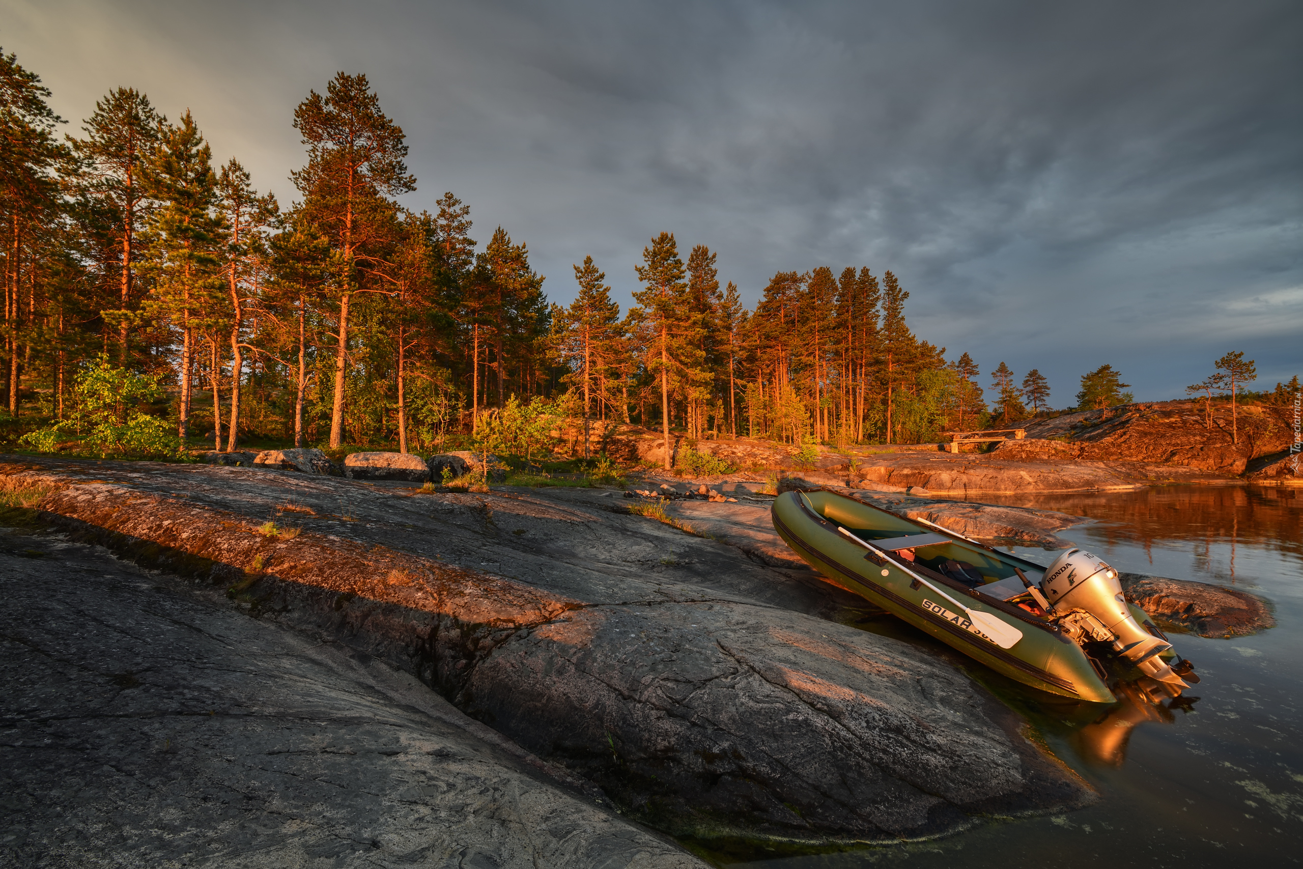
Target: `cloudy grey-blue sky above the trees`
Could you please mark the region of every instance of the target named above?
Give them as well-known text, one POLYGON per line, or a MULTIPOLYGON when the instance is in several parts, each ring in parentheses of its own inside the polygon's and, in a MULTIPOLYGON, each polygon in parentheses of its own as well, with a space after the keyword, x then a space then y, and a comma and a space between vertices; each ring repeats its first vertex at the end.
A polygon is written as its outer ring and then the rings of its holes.
POLYGON ((891 270, 924 340, 1184 395, 1243 350, 1303 375, 1303 4, 0 0, 0 47, 78 134, 95 100, 189 108, 289 203, 294 106, 365 73, 420 211, 593 255, 622 309, 662 231, 754 305, 778 271, 891 270))

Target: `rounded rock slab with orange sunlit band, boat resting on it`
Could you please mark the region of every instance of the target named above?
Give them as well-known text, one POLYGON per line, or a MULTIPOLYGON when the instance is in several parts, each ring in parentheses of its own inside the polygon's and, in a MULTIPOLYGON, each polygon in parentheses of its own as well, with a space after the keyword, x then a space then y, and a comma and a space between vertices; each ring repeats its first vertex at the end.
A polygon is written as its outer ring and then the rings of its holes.
POLYGON ((0 476, 39 495, 33 521, 412 674, 675 835, 895 840, 1093 799, 950 663, 833 620, 859 598, 615 491, 26 457, 0 476))

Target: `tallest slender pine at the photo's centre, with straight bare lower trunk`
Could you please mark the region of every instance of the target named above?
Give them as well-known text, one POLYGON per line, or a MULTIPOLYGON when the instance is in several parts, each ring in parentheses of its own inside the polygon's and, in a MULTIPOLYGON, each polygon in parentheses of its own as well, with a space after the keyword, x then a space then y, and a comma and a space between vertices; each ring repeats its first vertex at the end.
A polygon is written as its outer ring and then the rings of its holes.
MULTIPOLYGON (((665 468, 672 464, 674 444, 670 440, 670 373, 676 361, 671 356, 671 341, 683 332, 683 313, 688 285, 685 270, 679 258, 674 233, 662 232, 642 249, 642 264, 633 267, 645 289, 636 291, 633 300, 642 309, 641 315, 652 339, 648 345, 648 371, 661 379, 661 429, 665 434, 665 468)), ((678 349, 678 348, 675 348, 678 349)))

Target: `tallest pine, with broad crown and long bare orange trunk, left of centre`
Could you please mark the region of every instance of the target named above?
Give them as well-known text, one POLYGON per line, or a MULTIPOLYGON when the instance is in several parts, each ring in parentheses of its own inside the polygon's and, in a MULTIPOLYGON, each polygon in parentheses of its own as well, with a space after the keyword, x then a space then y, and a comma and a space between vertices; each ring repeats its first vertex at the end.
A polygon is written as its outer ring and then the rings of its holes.
POLYGON ((308 165, 293 173, 304 194, 302 212, 340 254, 336 276, 335 393, 330 446, 344 431, 344 379, 348 371, 349 306, 362 292, 388 292, 374 285, 383 249, 394 241, 396 206, 387 197, 410 193, 403 128, 380 111, 366 76, 339 73, 326 96, 310 91, 294 109, 294 128, 308 146, 308 165))

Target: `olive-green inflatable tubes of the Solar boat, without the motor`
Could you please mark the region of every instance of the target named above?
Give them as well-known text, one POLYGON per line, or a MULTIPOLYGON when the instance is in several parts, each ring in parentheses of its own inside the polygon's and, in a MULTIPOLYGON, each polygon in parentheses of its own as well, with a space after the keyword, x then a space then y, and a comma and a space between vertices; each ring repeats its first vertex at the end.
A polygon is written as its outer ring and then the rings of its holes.
MULTIPOLYGON (((963 586, 942 586, 946 594, 964 606, 986 612, 1022 632, 1016 644, 1001 649, 977 632, 959 607, 915 581, 900 564, 891 559, 865 558, 864 547, 838 532, 839 525, 852 530, 881 529, 883 534, 898 532, 902 535, 920 534, 926 529, 839 492, 812 491, 804 492, 804 496, 809 507, 797 492, 784 492, 774 500, 774 529, 792 551, 834 584, 1010 679, 1074 700, 1115 701, 1098 664, 1050 623, 1029 614, 1024 616, 1016 607, 963 586)), ((962 552, 966 560, 981 559, 979 563, 984 564, 984 569, 998 572, 1007 568, 1012 575, 1016 565, 1024 571, 1040 571, 1031 562, 962 541, 947 542, 946 546, 962 552)))

